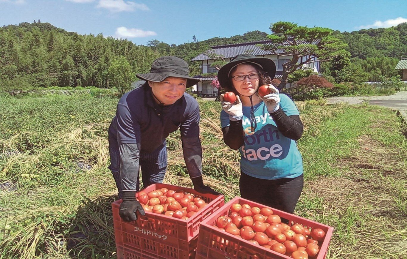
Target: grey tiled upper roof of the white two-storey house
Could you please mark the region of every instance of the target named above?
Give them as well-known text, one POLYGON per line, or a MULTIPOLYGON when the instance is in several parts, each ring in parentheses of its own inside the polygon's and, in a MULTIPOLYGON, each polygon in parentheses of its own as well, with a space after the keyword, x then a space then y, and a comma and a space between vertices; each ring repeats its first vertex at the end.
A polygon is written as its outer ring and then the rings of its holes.
MULTIPOLYGON (((271 55, 269 50, 263 50, 261 47, 257 46, 256 44, 263 44, 263 45, 272 45, 271 40, 267 41, 254 41, 254 42, 245 42, 245 43, 237 43, 237 44, 227 44, 227 45, 218 45, 212 46, 212 50, 214 54, 222 55, 224 58, 234 58, 239 54, 244 53, 251 53, 254 56, 263 56, 263 55, 271 55)), ((312 44, 317 45, 318 41, 314 41, 312 44)), ((277 50, 277 54, 283 54, 282 50, 277 50)), ((191 59, 191 61, 197 60, 211 60, 213 58, 209 58, 204 53, 199 54, 195 58, 191 59)))

